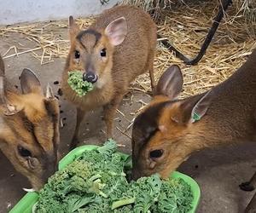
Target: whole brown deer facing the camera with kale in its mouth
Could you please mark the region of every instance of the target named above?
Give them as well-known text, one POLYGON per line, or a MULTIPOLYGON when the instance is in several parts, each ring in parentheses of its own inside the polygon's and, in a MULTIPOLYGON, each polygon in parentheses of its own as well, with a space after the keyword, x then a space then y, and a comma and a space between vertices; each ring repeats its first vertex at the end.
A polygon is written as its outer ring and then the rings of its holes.
POLYGON ((85 112, 103 107, 107 136, 113 136, 113 116, 132 80, 149 71, 154 89, 153 63, 156 26, 150 16, 131 6, 104 11, 89 29, 80 31, 69 17, 71 47, 62 74, 63 94, 77 107, 71 148, 78 144, 85 112), (79 97, 67 83, 68 72, 79 70, 94 89, 79 97))

